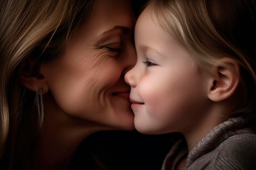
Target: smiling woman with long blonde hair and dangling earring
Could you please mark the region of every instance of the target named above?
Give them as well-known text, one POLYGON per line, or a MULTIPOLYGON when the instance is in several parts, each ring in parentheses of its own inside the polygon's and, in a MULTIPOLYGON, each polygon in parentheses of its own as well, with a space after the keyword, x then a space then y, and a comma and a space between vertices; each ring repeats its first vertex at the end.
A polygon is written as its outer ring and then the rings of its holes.
POLYGON ((0 4, 0 167, 67 169, 83 139, 132 130, 128 0, 0 4))

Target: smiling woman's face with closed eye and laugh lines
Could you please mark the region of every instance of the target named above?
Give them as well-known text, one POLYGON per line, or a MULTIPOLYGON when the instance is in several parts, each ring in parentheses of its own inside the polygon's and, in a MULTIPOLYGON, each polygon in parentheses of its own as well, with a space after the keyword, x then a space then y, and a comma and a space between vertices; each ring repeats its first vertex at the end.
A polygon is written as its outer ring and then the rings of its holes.
POLYGON ((54 99, 45 103, 45 114, 54 109, 83 124, 133 129, 124 75, 136 63, 134 25, 130 0, 97 0, 65 55, 42 67, 49 88, 45 97, 54 99))

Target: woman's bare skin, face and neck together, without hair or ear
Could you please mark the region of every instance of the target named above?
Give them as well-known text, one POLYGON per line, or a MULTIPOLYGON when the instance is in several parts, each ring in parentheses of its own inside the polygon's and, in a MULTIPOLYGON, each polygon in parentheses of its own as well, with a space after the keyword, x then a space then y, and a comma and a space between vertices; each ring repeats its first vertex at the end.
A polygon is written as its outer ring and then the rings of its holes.
POLYGON ((134 25, 129 0, 97 0, 66 53, 43 64, 45 118, 34 169, 65 169, 93 132, 134 129, 130 87, 124 81, 136 62, 134 25))

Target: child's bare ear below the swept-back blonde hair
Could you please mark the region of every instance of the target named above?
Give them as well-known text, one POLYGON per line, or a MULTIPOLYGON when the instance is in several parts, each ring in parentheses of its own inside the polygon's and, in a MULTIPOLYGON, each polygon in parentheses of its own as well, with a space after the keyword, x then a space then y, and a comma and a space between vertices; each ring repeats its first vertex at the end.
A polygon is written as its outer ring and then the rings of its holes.
POLYGON ((229 98, 235 93, 239 84, 240 67, 238 62, 230 58, 222 58, 219 61, 220 64, 213 66, 214 78, 211 79, 208 93, 209 99, 213 102, 229 98))

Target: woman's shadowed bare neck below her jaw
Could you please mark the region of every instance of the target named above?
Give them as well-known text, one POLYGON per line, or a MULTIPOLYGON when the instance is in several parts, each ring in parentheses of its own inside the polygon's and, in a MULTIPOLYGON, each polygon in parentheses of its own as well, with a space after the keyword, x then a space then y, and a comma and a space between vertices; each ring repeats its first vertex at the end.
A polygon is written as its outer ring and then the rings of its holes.
POLYGON ((67 116, 47 98, 32 169, 66 170, 81 141, 99 130, 95 124, 67 116))

